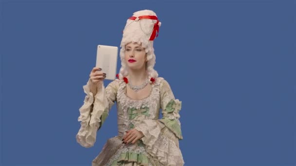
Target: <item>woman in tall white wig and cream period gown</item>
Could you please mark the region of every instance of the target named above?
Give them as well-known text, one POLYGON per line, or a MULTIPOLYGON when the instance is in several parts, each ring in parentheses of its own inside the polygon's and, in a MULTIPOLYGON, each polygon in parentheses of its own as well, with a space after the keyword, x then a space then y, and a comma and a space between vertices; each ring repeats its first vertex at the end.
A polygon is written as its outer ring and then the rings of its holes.
POLYGON ((150 10, 135 12, 127 20, 121 41, 121 69, 105 89, 106 74, 94 67, 83 86, 86 98, 79 109, 77 142, 93 146, 96 133, 117 102, 118 136, 110 138, 92 166, 183 166, 179 149, 183 139, 179 121, 181 101, 153 69, 153 40, 159 22, 150 10), (163 117, 159 119, 162 109, 163 117))

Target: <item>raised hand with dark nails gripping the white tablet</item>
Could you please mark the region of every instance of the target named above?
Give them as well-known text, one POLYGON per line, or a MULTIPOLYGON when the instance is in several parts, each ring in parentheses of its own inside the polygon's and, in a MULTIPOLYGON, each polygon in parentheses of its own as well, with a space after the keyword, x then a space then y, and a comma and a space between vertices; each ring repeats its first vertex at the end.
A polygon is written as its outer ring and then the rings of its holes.
POLYGON ((98 85, 106 78, 106 73, 101 71, 100 67, 93 67, 90 74, 90 90, 93 96, 97 93, 98 85))

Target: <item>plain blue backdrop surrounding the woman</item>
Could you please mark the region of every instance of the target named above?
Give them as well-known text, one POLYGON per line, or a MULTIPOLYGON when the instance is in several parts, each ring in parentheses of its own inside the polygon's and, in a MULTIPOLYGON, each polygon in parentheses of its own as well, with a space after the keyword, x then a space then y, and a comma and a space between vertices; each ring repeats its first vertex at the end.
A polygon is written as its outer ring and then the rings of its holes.
POLYGON ((96 47, 119 47, 126 20, 150 9, 162 22, 155 69, 183 102, 185 166, 295 166, 295 7, 295 0, 2 0, 1 165, 91 165, 117 135, 114 105, 94 147, 75 140, 96 47))

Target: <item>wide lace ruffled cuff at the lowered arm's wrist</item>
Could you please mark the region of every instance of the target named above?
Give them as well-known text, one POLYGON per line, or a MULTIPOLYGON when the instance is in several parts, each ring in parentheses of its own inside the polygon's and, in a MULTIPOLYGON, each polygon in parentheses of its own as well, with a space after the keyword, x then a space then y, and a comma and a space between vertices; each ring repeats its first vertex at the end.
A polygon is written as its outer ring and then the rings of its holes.
POLYGON ((165 166, 183 166, 184 160, 178 145, 162 133, 163 124, 156 120, 145 119, 135 129, 141 131, 146 151, 165 166))

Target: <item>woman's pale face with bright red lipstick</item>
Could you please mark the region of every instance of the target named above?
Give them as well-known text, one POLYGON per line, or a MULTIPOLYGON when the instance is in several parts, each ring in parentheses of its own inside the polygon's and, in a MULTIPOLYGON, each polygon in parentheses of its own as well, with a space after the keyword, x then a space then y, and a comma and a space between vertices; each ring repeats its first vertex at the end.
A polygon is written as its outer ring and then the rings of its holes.
POLYGON ((145 48, 141 45, 132 42, 126 45, 125 60, 130 69, 142 69, 146 67, 147 56, 145 48))

